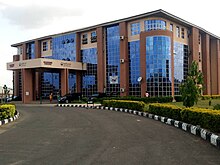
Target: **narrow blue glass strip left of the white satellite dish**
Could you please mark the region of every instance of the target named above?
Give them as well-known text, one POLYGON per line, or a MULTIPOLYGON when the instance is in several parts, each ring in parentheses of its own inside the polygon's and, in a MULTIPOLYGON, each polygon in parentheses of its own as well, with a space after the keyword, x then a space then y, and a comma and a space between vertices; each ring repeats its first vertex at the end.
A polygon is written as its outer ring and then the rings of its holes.
POLYGON ((129 52, 129 95, 141 96, 140 83, 140 41, 128 43, 129 52))

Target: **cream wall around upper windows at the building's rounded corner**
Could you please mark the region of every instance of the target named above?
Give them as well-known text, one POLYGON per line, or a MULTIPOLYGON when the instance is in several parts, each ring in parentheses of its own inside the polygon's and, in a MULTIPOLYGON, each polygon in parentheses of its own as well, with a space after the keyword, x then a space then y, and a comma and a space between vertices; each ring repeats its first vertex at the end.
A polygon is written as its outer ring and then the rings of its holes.
POLYGON ((139 20, 128 22, 128 24, 127 24, 128 42, 136 41, 136 40, 140 39, 140 35, 139 34, 138 35, 134 35, 134 36, 131 35, 131 24, 132 23, 140 22, 140 29, 141 29, 141 31, 145 31, 145 29, 144 29, 144 21, 145 20, 154 20, 154 19, 166 21, 166 29, 167 30, 170 30, 170 24, 173 24, 173 39, 174 39, 174 41, 180 42, 180 43, 183 43, 183 44, 186 44, 186 45, 189 44, 188 33, 187 33, 188 29, 186 27, 184 27, 182 25, 179 25, 179 24, 177 24, 175 22, 172 22, 170 20, 161 18, 161 17, 143 18, 143 19, 139 19, 139 20), (180 37, 176 37, 176 26, 179 26, 179 28, 180 28, 180 37), (184 28, 184 32, 185 32, 184 39, 181 37, 181 28, 184 28))

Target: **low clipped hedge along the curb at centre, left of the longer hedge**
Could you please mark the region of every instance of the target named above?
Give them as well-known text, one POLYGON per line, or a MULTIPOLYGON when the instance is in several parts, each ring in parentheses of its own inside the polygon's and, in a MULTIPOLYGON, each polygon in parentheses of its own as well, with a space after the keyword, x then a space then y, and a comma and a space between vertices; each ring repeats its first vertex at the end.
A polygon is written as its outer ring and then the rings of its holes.
POLYGON ((102 105, 105 107, 125 108, 143 111, 144 102, 130 100, 103 100, 102 105))

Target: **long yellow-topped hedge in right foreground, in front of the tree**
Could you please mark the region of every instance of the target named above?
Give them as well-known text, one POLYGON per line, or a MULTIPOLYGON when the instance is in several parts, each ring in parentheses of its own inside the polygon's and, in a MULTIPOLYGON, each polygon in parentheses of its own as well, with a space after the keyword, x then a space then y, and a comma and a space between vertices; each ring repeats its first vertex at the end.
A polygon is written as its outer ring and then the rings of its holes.
POLYGON ((150 104, 149 113, 169 117, 214 132, 220 132, 220 111, 202 108, 180 108, 167 104, 150 104))

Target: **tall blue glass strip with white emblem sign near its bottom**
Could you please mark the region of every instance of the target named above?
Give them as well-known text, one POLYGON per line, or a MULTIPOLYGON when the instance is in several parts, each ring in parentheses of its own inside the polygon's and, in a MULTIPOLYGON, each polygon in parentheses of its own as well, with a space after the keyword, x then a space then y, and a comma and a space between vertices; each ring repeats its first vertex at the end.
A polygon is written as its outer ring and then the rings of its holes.
POLYGON ((119 26, 106 28, 106 92, 120 95, 120 34, 119 26))

